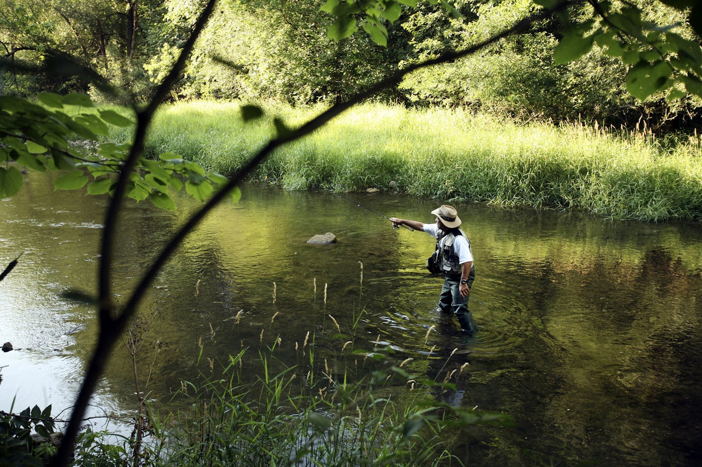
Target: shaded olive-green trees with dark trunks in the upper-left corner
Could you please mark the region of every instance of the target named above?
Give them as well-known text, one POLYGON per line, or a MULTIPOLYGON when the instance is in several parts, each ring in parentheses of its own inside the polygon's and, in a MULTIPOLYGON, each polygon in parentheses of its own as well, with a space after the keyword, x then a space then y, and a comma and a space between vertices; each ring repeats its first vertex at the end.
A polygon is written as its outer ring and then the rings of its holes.
MULTIPOLYGON (((143 98, 150 93, 143 60, 161 46, 157 38, 172 39, 159 36, 155 27, 162 15, 161 2, 152 0, 2 2, 0 41, 6 46, 5 57, 28 69, 4 72, 0 67, 0 88, 17 95, 86 92, 91 85, 86 76, 100 75, 121 89, 122 100, 143 98), (52 67, 57 59, 60 63, 52 67), (66 79, 67 67, 74 66, 88 74, 66 79), (37 73, 42 68, 45 72, 37 73)), ((94 88, 93 93, 101 91, 94 88)))

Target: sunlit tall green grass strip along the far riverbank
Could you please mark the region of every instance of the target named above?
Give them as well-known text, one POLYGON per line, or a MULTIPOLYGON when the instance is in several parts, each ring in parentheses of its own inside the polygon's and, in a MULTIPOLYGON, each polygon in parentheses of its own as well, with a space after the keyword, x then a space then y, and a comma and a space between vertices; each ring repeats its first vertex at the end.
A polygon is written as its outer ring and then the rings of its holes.
MULTIPOLYGON (((321 110, 277 105, 266 115, 295 124, 321 110)), ((270 119, 244 126, 237 103, 184 102, 159 112, 147 152, 181 154, 230 175, 271 128, 270 119)), ((279 149, 253 179, 291 190, 378 188, 618 219, 701 219, 701 148, 698 135, 661 140, 580 123, 520 124, 461 109, 364 104, 279 149)))

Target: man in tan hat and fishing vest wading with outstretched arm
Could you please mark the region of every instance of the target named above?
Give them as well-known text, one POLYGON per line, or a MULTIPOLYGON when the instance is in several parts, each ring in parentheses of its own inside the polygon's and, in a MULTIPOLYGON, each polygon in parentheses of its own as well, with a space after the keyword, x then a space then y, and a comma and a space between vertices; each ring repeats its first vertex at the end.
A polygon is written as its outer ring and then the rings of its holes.
POLYGON ((433 210, 432 215, 436 216, 435 224, 397 217, 390 217, 390 221, 393 226, 410 226, 437 239, 436 251, 428 259, 427 268, 444 276, 444 285, 439 295, 439 309, 447 315, 455 314, 461 330, 472 335, 477 328, 472 313, 468 310, 470 287, 475 278, 470 241, 465 237, 465 233, 458 229, 461 219, 456 208, 444 204, 433 210))

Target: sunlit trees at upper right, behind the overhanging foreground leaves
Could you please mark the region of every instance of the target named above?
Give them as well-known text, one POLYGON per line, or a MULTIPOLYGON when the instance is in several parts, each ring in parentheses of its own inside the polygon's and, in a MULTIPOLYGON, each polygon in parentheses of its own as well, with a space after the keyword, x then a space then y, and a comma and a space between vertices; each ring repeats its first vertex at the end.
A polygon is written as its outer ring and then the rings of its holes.
MULTIPOLYGON (((411 15, 403 23, 415 38, 411 42, 413 56, 407 62, 434 57, 445 48, 470 46, 534 13, 534 4, 523 0, 503 1, 496 6, 473 4, 471 8, 468 11, 463 7, 463 20, 451 20, 439 9, 411 15)), ((641 8, 640 15, 650 27, 658 25, 663 30, 669 23, 684 20, 679 13, 671 13, 670 8, 655 2, 641 8)), ((665 68, 638 65, 630 71, 630 65, 639 60, 638 53, 629 64, 622 60, 621 53, 613 53, 616 47, 621 48, 620 43, 609 40, 610 35, 595 34, 594 14, 583 6, 574 8, 565 17, 564 26, 557 22, 536 24, 531 32, 503 39, 482 53, 415 72, 400 88, 418 104, 466 106, 520 119, 625 121, 625 111, 641 108, 640 99, 655 102, 665 97, 665 89, 658 88, 665 68)), ((671 40, 680 42, 679 37, 683 37, 680 45, 697 55, 694 50, 699 46, 691 39, 689 28, 667 28, 665 34, 671 40)), ((630 48, 635 43, 642 50, 649 47, 643 39, 630 42, 630 48)), ((634 54, 626 55, 630 57, 634 54)), ((680 79, 689 86, 696 83, 687 74, 680 79)), ((687 94, 682 81, 668 92, 668 117, 694 111, 698 105, 698 100, 680 100, 687 94)), ((637 113, 636 119, 639 117, 637 113)))

